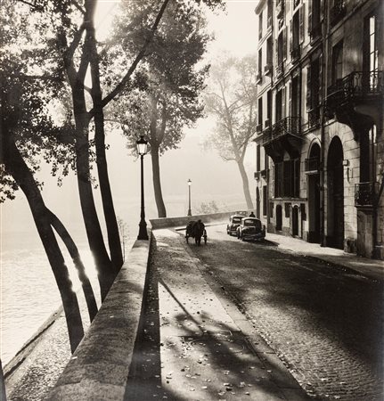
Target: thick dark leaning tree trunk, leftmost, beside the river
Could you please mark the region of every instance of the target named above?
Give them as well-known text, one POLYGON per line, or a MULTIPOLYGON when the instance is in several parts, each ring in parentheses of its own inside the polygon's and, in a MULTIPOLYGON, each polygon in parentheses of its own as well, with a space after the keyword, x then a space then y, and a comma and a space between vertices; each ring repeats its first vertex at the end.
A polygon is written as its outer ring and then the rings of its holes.
MULTIPOLYGON (((5 127, 3 131, 5 131, 5 127)), ((45 203, 37 187, 35 179, 27 164, 22 159, 16 144, 3 132, 4 166, 12 175, 27 197, 29 208, 37 226, 37 232, 45 249, 46 256, 52 267, 53 275, 60 291, 62 306, 67 320, 69 343, 72 352, 78 347, 78 343, 84 336, 83 323, 81 321, 78 298, 72 289, 69 279, 68 267, 53 233, 53 228, 46 213, 45 203)))

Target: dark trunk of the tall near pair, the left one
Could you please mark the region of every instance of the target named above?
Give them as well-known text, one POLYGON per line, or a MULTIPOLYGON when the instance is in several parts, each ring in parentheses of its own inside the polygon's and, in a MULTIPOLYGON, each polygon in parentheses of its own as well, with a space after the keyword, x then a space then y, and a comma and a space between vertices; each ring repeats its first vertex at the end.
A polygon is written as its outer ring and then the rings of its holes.
POLYGON ((98 279, 102 300, 105 299, 112 285, 118 268, 110 262, 110 257, 102 238, 102 228, 97 217, 94 205, 94 194, 89 167, 89 119, 86 113, 86 99, 81 86, 72 88, 73 108, 76 121, 76 168, 78 174, 78 193, 80 205, 86 225, 86 236, 89 248, 94 255, 95 265, 98 271, 98 279))

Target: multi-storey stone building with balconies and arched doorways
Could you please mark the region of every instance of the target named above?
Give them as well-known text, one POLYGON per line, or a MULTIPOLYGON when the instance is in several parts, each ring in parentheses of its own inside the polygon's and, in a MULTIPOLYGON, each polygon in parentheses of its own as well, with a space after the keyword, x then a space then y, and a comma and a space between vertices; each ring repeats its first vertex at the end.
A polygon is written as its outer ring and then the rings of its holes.
POLYGON ((257 216, 384 256, 384 2, 260 0, 257 216))

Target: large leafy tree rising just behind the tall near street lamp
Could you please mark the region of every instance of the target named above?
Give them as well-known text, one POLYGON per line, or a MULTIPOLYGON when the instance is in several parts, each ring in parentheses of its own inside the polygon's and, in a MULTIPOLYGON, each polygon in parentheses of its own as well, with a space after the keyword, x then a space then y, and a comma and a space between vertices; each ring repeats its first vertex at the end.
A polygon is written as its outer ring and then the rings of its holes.
MULTIPOLYGON (((206 51, 209 37, 198 4, 174 2, 167 7, 141 69, 142 85, 119 99, 114 114, 120 116, 128 147, 135 152, 132 131, 146 135, 151 146, 152 179, 159 217, 167 217, 161 183, 159 157, 175 149, 202 116, 200 94, 208 66, 196 64, 206 51)), ((142 39, 135 37, 140 43, 142 39)))

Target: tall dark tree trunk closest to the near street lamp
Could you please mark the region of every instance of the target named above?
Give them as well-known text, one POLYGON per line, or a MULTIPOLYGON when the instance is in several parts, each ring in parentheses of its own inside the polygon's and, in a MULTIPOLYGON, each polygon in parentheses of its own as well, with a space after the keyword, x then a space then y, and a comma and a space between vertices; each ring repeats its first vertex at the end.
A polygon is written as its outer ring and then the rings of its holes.
POLYGON ((119 270, 123 265, 118 221, 110 191, 110 178, 108 176, 107 158, 105 154, 104 114, 102 110, 102 89, 100 86, 99 56, 97 54, 94 28, 88 29, 91 56, 92 99, 94 102, 95 145, 97 158, 97 172, 99 176, 100 191, 102 194, 102 208, 105 224, 107 226, 108 244, 112 264, 119 270))

